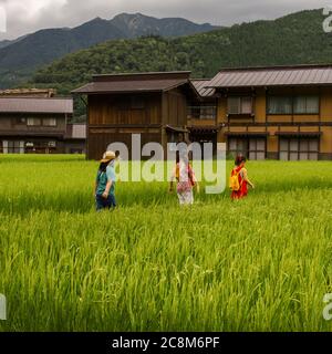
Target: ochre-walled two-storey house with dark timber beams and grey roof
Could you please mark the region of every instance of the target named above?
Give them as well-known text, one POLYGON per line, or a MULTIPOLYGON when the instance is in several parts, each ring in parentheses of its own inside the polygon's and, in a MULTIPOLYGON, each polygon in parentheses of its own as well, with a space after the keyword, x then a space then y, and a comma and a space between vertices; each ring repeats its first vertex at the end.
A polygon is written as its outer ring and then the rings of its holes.
POLYGON ((218 142, 249 159, 332 159, 332 65, 221 70, 218 142))

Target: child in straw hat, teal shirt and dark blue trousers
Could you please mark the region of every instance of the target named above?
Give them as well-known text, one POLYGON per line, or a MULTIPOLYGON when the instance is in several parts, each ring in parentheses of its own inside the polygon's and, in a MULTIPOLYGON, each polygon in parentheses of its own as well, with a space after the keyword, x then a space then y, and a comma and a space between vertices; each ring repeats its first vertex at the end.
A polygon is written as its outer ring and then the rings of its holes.
POLYGON ((116 207, 115 201, 115 164, 116 155, 106 152, 101 160, 95 183, 96 210, 111 209, 116 207))

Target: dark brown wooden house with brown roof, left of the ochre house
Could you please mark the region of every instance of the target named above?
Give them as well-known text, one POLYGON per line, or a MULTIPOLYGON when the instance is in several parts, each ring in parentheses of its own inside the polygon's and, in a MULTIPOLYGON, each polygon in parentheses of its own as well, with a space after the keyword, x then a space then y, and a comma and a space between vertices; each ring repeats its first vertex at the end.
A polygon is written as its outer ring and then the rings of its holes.
POLYGON ((74 90, 87 101, 87 158, 98 159, 111 143, 132 147, 132 134, 142 145, 188 139, 188 101, 199 100, 189 72, 95 75, 74 90))

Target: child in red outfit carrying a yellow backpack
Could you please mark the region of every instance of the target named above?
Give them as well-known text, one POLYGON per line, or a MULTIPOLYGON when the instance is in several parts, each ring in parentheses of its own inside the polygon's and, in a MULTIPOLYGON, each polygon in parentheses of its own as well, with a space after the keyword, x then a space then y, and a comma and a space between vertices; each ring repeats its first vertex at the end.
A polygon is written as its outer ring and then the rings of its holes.
POLYGON ((253 184, 248 178, 248 171, 246 169, 246 157, 245 156, 237 156, 235 160, 236 167, 231 171, 231 177, 238 178, 238 187, 234 187, 231 191, 231 199, 241 199, 247 197, 248 195, 248 185, 255 189, 253 184))

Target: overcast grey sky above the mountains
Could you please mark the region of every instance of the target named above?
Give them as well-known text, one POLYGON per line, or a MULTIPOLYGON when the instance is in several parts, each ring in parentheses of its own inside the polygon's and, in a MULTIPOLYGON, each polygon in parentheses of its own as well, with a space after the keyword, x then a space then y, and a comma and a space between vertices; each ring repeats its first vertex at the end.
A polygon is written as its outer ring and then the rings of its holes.
POLYGON ((0 40, 40 29, 75 27, 96 17, 112 19, 122 12, 230 25, 326 6, 332 8, 332 0, 0 0, 0 40))

